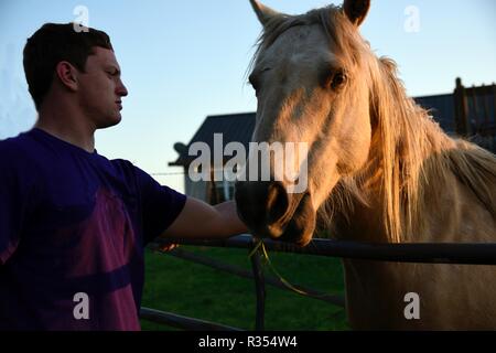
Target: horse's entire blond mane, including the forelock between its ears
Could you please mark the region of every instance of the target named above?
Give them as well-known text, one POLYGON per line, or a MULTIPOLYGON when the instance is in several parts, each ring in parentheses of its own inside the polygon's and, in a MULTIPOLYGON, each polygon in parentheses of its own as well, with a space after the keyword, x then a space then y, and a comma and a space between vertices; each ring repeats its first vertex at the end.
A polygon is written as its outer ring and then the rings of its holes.
POLYGON ((259 39, 254 62, 284 31, 305 24, 321 24, 349 65, 362 68, 369 82, 374 131, 367 165, 339 181, 321 207, 321 218, 328 220, 328 224, 335 213, 349 218, 357 200, 368 204, 369 196, 377 196, 379 191, 389 242, 399 243, 422 231, 427 190, 444 188, 450 174, 496 218, 496 157, 448 137, 425 109, 407 97, 396 64, 373 54, 341 8, 330 6, 303 15, 271 19, 259 39))

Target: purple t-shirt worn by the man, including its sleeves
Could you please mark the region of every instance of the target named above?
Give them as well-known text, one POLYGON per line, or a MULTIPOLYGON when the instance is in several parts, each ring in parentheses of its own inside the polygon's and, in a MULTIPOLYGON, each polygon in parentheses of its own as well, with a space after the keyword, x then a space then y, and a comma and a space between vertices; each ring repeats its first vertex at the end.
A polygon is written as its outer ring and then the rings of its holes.
POLYGON ((0 141, 0 330, 139 330, 143 246, 185 200, 40 129, 0 141))

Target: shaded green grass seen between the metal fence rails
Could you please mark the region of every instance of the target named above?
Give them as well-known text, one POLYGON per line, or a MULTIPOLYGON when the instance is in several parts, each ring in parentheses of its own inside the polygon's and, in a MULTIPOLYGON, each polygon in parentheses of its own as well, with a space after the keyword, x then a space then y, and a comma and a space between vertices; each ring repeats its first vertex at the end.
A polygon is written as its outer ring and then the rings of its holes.
MULTIPOLYGON (((251 269, 248 250, 183 249, 251 269)), ((291 284, 343 295, 343 270, 335 258, 270 253, 273 267, 291 284)), ((142 304, 246 330, 255 329, 255 281, 164 254, 147 252, 142 304)), ((273 275, 265 265, 268 275, 273 275)), ((266 286, 266 330, 347 330, 343 308, 266 286)), ((143 330, 171 330, 142 320, 143 330)))

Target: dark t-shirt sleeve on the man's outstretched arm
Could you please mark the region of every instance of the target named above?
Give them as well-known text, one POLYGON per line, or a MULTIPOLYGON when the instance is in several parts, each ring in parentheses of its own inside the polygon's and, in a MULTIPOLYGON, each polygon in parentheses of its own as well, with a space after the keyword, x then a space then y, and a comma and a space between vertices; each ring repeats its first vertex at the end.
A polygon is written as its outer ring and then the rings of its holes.
POLYGON ((143 214, 143 244, 161 235, 177 218, 186 203, 186 195, 159 184, 149 174, 136 168, 141 191, 143 214))

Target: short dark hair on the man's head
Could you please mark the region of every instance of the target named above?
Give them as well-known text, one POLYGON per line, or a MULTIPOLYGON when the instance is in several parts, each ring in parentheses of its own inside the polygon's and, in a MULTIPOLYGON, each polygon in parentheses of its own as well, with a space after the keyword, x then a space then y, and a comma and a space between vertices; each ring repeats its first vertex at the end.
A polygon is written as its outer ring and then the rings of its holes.
POLYGON ((107 33, 78 24, 45 23, 24 46, 24 73, 36 110, 40 109, 54 78, 55 67, 67 61, 85 72, 86 61, 94 54, 93 47, 114 50, 107 33))

